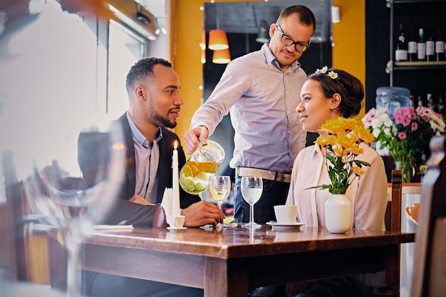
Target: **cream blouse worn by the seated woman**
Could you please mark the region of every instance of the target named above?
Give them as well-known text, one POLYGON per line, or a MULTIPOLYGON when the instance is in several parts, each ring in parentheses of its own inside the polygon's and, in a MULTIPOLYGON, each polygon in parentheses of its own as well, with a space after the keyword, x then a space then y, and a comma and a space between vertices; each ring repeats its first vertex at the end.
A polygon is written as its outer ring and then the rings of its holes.
MULTIPOLYGON (((361 144, 363 154, 358 160, 369 162, 363 167, 365 175, 356 177, 346 195, 352 204, 351 228, 385 230, 384 215, 387 206, 387 177, 382 157, 368 145, 361 144)), ((326 227, 325 202, 328 189, 306 189, 318 184, 330 184, 328 171, 318 145, 306 147, 294 160, 291 184, 286 204, 298 206, 298 219, 306 226, 326 227)))

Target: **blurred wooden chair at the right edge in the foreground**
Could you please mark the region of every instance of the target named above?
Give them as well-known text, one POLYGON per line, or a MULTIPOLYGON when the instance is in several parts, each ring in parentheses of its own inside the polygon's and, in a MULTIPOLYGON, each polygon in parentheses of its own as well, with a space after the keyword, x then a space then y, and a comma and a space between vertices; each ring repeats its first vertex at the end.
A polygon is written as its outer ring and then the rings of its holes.
POLYGON ((446 294, 446 135, 432 137, 422 179, 411 297, 446 294))

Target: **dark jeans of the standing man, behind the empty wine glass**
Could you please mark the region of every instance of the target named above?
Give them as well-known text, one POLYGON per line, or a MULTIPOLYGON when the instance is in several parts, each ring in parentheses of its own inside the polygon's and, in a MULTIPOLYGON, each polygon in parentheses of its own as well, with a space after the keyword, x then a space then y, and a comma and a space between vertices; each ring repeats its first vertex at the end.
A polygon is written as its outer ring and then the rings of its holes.
MULTIPOLYGON (((244 201, 240 182, 242 177, 235 177, 235 197, 234 197, 234 218, 237 223, 249 222, 249 204, 244 201)), ((273 182, 264 179, 264 189, 260 200, 254 204, 254 222, 265 224, 269 221, 276 221, 274 215, 274 205, 285 204, 289 191, 289 182, 273 182)))

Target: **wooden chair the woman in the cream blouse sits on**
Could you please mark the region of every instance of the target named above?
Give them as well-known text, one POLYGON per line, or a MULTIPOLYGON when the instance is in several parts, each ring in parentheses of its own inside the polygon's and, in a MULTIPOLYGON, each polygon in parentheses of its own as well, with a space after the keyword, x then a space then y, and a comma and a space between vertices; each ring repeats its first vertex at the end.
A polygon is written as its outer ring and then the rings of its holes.
MULTIPOLYGON (((385 230, 401 231, 401 200, 403 197, 403 176, 401 170, 392 170, 392 195, 385 209, 385 230)), ((400 288, 400 251, 398 261, 391 263, 391 270, 365 275, 365 283, 370 286, 373 296, 399 296, 400 288)))

